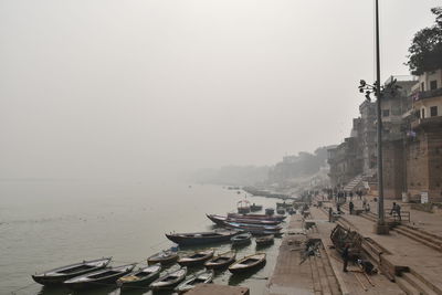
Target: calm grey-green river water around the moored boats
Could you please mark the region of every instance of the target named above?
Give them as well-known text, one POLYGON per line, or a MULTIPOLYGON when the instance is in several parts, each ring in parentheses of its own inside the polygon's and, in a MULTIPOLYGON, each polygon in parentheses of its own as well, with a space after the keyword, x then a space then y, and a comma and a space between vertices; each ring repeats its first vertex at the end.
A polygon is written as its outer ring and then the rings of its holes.
MULTIPOLYGON (((33 284, 31 274, 103 256, 113 256, 113 265, 146 263, 146 257, 172 245, 165 238, 166 232, 211 230, 213 225, 206 213, 233 212, 242 199, 244 192, 239 194, 210 185, 0 181, 0 294, 75 294, 33 284)), ((261 197, 248 199, 264 208, 274 208, 276 202, 261 197)), ((217 273, 214 283, 243 285, 252 294, 263 294, 281 240, 275 240, 274 245, 263 250, 267 263, 256 273, 232 276, 225 271, 217 273)), ((209 247, 224 252, 230 245, 209 247)), ((254 252, 253 241, 239 249, 236 257, 254 252)), ((119 291, 106 287, 81 294, 119 294, 119 291)), ((139 289, 129 294, 150 292, 139 289)))

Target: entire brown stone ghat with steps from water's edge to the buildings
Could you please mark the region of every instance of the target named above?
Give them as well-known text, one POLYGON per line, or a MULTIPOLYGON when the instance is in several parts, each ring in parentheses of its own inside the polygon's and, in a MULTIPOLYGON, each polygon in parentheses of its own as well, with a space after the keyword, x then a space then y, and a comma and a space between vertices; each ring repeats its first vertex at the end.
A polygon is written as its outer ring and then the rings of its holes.
MULTIPOLYGON (((375 199, 367 198, 370 207, 376 208, 375 199)), ((410 222, 391 223, 390 233, 379 235, 373 233, 375 213, 349 214, 347 203, 341 206, 345 214, 329 222, 328 208, 336 211, 336 204, 323 200, 322 196, 313 200, 305 219, 292 217, 266 294, 442 294, 440 212, 422 212, 400 202, 402 210, 410 212, 410 222), (362 238, 361 253, 379 270, 377 274, 366 275, 352 263, 349 272, 343 272, 343 260, 330 240, 336 224, 362 238), (301 263, 308 241, 319 241, 320 246, 301 263)), ((352 201, 356 209, 362 208, 362 200, 352 201)), ((386 207, 391 207, 391 202, 387 200, 386 207)))

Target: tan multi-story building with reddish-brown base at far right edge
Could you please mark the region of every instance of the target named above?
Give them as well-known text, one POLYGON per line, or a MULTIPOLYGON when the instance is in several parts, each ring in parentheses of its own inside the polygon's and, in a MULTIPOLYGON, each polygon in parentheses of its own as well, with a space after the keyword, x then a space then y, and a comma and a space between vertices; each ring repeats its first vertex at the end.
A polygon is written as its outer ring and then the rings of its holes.
POLYGON ((442 70, 419 76, 411 95, 415 114, 407 140, 407 191, 442 201, 442 70))

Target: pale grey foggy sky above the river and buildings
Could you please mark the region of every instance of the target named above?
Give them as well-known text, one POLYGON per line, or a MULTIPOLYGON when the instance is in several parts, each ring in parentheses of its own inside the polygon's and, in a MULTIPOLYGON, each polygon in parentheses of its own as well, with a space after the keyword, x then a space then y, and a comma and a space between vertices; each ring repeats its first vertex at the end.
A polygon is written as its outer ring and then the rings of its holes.
MULTIPOLYGON (((381 0, 382 82, 435 0, 381 0)), ((271 165, 339 144, 372 0, 0 0, 0 178, 271 165)))

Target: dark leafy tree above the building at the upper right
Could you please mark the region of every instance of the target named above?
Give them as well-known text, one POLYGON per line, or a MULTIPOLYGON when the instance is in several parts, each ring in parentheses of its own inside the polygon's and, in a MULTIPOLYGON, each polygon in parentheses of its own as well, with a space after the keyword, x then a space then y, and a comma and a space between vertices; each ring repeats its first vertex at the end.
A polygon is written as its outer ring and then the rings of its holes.
POLYGON ((413 75, 442 69, 442 7, 431 9, 435 24, 415 33, 406 63, 413 75))

